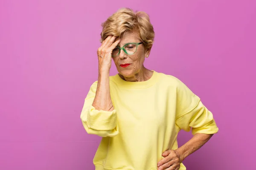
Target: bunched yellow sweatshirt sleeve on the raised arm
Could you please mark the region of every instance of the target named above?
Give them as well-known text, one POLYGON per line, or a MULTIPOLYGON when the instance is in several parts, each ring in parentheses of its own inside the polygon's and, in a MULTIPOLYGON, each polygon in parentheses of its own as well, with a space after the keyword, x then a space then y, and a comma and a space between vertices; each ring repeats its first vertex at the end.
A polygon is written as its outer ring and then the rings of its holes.
POLYGON ((119 133, 119 128, 116 125, 116 110, 99 111, 93 107, 95 98, 97 81, 90 87, 81 111, 81 121, 88 134, 95 134, 102 137, 113 137, 119 133))

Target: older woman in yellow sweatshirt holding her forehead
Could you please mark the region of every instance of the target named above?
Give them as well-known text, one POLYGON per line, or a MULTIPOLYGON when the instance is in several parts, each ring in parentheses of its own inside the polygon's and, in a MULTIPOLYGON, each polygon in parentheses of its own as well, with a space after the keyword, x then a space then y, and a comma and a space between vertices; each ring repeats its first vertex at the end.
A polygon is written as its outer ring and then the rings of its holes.
POLYGON ((102 136, 96 170, 186 170, 182 161, 218 132, 212 113, 179 79, 143 65, 154 42, 145 12, 119 9, 102 27, 99 77, 81 112, 87 133, 102 136), (178 132, 191 128, 178 147, 178 132))

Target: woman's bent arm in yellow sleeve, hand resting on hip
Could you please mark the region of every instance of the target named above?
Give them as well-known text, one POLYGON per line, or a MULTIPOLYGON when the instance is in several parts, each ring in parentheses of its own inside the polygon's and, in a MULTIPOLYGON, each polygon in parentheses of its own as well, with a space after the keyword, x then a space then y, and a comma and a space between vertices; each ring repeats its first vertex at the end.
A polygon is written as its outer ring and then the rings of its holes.
POLYGON ((214 133, 218 132, 218 127, 212 113, 203 105, 200 98, 193 94, 180 80, 177 82, 175 123, 179 130, 190 131, 192 129, 194 136, 176 150, 166 150, 163 152, 162 156, 164 158, 158 162, 158 170, 165 170, 167 168, 178 170, 180 163, 187 156, 202 147, 214 133))

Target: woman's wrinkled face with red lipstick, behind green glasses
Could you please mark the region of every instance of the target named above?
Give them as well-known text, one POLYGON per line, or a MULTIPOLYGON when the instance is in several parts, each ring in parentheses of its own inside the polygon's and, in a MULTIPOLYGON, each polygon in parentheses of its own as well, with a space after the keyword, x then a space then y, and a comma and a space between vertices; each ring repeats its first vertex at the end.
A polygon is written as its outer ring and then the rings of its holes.
MULTIPOLYGON (((118 46, 123 47, 124 45, 131 42, 141 42, 138 34, 135 32, 126 32, 125 35, 121 36, 121 41, 118 46)), ((112 57, 115 62, 117 71, 124 77, 133 77, 135 74, 139 73, 143 68, 143 62, 145 57, 149 55, 149 50, 146 50, 143 44, 138 45, 137 51, 132 54, 126 54, 122 49, 120 54, 116 57, 112 57), (130 64, 130 65, 125 65, 130 64)))

